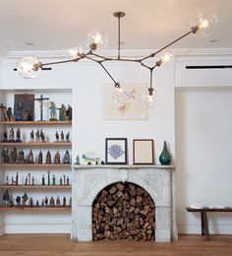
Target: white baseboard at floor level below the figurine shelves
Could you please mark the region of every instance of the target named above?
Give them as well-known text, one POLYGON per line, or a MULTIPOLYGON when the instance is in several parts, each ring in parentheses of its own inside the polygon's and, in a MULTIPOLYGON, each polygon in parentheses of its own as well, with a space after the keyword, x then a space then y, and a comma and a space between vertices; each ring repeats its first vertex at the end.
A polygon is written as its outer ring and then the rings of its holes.
POLYGON ((71 224, 6 224, 5 233, 71 233, 71 224))

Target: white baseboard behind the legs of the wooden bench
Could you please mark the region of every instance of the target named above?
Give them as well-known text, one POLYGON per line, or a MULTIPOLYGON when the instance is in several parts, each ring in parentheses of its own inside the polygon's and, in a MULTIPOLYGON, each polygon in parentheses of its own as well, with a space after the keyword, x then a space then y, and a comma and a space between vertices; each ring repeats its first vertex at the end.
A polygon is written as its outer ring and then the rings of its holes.
MULTIPOLYGON (((208 224, 211 234, 232 234, 232 224, 208 224)), ((180 234, 202 234, 201 224, 178 224, 180 234)))

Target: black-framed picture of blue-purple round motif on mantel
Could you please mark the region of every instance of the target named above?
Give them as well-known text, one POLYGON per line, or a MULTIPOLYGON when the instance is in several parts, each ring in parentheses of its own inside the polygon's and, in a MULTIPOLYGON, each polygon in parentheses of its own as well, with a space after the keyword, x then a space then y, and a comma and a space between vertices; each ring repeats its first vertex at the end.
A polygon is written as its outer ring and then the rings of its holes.
POLYGON ((105 139, 105 163, 127 164, 127 138, 105 139))

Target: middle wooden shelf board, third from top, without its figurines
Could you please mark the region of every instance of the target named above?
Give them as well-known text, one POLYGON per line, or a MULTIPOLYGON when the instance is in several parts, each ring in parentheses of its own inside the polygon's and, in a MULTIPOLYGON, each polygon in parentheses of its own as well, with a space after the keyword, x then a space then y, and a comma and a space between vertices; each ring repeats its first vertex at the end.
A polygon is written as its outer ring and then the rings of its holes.
POLYGON ((65 168, 71 167, 71 164, 66 163, 1 163, 0 167, 16 167, 16 168, 25 168, 25 167, 38 167, 38 168, 65 168))

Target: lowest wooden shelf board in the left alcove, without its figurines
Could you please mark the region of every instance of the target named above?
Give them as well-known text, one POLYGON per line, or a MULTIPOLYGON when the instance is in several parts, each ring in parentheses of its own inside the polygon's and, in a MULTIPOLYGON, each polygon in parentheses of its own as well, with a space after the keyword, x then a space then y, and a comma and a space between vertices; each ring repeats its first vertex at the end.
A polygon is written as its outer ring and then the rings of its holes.
POLYGON ((36 207, 36 206, 0 206, 0 212, 70 212, 71 207, 36 207))

